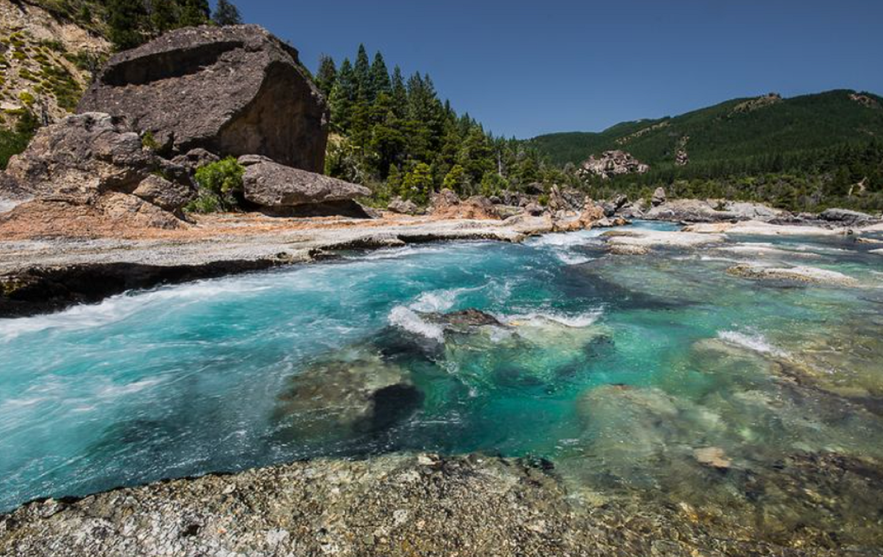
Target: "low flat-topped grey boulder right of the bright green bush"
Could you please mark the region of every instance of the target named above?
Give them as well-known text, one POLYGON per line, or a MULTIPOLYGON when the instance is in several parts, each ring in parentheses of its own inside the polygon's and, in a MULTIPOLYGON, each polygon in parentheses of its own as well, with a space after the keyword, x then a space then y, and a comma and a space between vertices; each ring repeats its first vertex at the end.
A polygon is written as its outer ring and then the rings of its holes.
POLYGON ((371 190, 363 185, 295 169, 266 157, 245 155, 239 157, 239 163, 245 166, 245 199, 270 209, 271 213, 299 207, 309 209, 309 215, 320 215, 320 209, 326 207, 327 214, 367 216, 364 209, 358 211, 355 203, 356 198, 371 195, 371 190))

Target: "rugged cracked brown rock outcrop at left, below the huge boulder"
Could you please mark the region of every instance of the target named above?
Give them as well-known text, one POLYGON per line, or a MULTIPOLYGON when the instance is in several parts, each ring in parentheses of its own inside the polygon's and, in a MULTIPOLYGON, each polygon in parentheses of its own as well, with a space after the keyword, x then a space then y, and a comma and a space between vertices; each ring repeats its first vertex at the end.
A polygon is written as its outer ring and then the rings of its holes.
POLYGON ((90 214, 112 221, 137 216, 133 223, 161 228, 183 225, 172 214, 180 215, 195 195, 185 169, 142 147, 125 118, 102 113, 42 128, 22 154, 12 157, 0 188, 33 199, 30 206, 13 209, 10 219, 55 203, 92 207, 90 214))

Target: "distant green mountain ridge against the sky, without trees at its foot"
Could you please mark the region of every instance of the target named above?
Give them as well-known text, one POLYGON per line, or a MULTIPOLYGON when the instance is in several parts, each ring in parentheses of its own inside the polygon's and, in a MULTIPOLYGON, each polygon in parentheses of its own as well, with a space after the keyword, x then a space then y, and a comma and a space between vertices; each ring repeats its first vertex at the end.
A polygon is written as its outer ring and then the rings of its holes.
POLYGON ((778 94, 733 99, 676 117, 623 122, 603 132, 550 133, 525 143, 557 165, 622 149, 658 170, 872 139, 883 139, 883 97, 838 89, 788 99, 778 94))

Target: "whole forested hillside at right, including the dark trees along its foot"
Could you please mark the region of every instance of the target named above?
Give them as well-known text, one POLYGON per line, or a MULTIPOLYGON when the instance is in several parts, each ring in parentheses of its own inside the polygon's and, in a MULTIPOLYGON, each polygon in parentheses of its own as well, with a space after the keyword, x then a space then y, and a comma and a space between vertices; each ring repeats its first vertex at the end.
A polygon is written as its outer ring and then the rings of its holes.
POLYGON ((639 176, 583 177, 598 195, 644 195, 662 185, 676 196, 756 199, 792 209, 883 208, 883 98, 874 94, 769 94, 526 143, 568 169, 613 149, 650 165, 639 176))

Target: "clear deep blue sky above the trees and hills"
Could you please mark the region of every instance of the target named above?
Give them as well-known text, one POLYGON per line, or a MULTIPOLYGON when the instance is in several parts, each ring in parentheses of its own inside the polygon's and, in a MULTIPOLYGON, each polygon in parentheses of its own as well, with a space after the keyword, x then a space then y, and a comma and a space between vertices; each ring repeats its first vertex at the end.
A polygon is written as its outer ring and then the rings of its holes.
POLYGON ((497 134, 598 131, 739 96, 883 93, 881 0, 234 0, 315 70, 359 42, 497 134))

